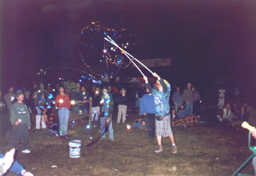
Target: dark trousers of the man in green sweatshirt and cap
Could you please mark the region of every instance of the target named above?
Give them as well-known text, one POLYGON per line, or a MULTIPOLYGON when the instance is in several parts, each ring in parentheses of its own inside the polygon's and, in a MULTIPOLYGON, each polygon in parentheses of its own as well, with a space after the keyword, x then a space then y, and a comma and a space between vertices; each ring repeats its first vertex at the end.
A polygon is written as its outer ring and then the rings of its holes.
POLYGON ((29 127, 27 124, 13 125, 12 148, 19 149, 19 141, 22 137, 22 150, 29 149, 29 127))

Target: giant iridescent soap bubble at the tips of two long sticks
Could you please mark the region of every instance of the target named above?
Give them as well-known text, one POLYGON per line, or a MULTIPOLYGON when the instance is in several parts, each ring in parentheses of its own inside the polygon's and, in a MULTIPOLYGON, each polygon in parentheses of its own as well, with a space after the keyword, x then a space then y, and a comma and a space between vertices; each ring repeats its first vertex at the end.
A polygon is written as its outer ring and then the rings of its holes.
POLYGON ((136 53, 138 39, 128 29, 115 30, 100 22, 91 22, 82 28, 79 35, 82 63, 94 75, 110 79, 115 77, 120 69, 128 67, 130 60, 120 49, 104 40, 107 36, 133 55, 136 53))

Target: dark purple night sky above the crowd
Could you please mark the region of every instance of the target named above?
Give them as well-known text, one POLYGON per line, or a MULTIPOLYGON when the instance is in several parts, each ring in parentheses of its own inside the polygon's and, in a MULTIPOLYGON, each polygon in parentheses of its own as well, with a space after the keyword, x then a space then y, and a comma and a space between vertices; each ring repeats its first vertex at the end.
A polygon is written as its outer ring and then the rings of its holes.
POLYGON ((167 79, 230 76, 254 85, 255 9, 249 0, 2 1, 1 88, 30 84, 47 67, 83 69, 79 33, 92 21, 133 31, 138 59, 172 57, 167 79))

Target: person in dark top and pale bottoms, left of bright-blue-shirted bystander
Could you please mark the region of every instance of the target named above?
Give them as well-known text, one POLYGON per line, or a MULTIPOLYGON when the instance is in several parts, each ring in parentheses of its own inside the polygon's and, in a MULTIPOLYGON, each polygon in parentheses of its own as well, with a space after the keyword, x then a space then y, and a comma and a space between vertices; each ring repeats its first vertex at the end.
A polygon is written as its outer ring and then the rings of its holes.
POLYGON ((92 96, 92 121, 98 121, 100 114, 100 89, 96 88, 94 96, 92 96))

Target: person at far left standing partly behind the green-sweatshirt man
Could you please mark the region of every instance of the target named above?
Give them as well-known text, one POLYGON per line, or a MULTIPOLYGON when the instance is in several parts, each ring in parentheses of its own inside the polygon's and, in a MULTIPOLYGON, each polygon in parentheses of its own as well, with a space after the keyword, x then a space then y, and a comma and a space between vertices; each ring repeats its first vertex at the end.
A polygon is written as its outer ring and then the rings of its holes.
POLYGON ((14 88, 10 87, 8 93, 4 96, 4 100, 6 101, 7 105, 7 119, 4 122, 4 126, 6 127, 6 134, 9 134, 11 130, 11 122, 10 122, 10 111, 12 106, 12 101, 15 99, 16 94, 14 93, 14 88))

